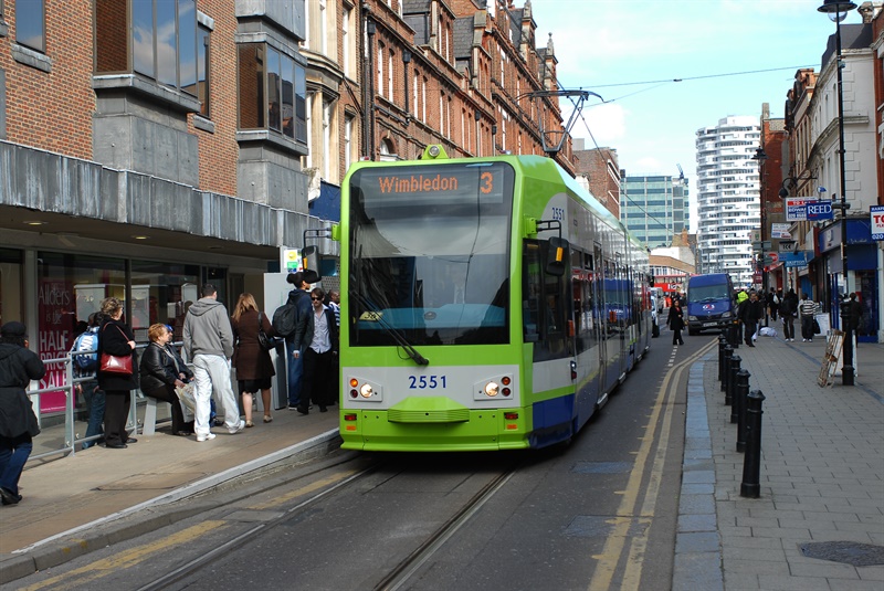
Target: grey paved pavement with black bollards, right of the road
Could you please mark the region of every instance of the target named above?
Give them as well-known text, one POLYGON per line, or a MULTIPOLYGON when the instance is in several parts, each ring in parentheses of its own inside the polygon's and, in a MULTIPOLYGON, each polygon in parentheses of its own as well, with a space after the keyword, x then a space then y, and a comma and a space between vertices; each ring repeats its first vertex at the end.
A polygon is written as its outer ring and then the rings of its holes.
POLYGON ((760 495, 740 496, 745 453, 736 451, 716 347, 688 378, 672 588, 881 591, 884 346, 857 346, 852 387, 840 374, 818 386, 822 338, 761 337, 734 352, 749 389, 765 397, 760 495))

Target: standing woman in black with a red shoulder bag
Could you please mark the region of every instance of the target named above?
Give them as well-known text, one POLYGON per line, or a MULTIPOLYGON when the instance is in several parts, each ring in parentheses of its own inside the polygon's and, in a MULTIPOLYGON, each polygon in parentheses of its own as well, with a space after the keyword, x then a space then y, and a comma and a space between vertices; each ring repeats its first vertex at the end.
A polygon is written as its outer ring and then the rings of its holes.
POLYGON ((137 440, 130 437, 126 431, 126 421, 129 418, 129 403, 131 390, 138 388, 138 377, 135 371, 130 374, 110 373, 102 371, 102 355, 108 353, 116 357, 131 357, 131 367, 136 368, 135 335, 129 326, 123 321, 123 304, 116 297, 102 300, 104 320, 98 330, 98 388, 104 390, 106 404, 104 409, 104 441, 110 450, 122 450, 127 443, 137 440))

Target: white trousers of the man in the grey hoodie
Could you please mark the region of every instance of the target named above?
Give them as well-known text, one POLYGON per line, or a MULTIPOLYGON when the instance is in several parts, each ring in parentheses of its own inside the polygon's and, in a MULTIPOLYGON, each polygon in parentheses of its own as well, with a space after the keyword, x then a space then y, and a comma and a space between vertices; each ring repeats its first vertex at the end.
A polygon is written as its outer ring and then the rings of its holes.
POLYGON ((197 401, 197 409, 193 413, 193 432, 197 436, 208 435, 212 426, 209 422, 212 390, 217 392, 218 403, 223 408, 224 426, 235 429, 240 424, 240 405, 233 394, 233 387, 230 383, 230 365, 224 357, 194 355, 193 383, 193 398, 197 401))

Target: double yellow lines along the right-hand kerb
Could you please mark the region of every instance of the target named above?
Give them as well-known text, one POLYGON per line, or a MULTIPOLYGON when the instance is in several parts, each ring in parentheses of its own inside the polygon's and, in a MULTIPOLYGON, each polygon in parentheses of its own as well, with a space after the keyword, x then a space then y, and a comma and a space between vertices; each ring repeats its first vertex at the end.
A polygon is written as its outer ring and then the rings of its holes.
MULTIPOLYGON (((664 401, 672 399, 676 395, 674 386, 678 383, 682 372, 685 368, 690 367, 696 359, 702 357, 713 347, 709 344, 703 347, 699 351, 688 357, 680 363, 680 367, 674 372, 667 372, 663 379, 660 391, 654 403, 652 412, 653 420, 649 425, 649 430, 642 440, 642 445, 635 457, 635 464, 630 473, 627 489, 622 492, 623 498, 620 502, 620 507, 617 510, 618 516, 634 516, 635 507, 639 503, 639 494, 641 489, 642 478, 644 477, 644 467, 651 455, 651 445, 655 440, 657 419, 660 418, 661 409, 664 408, 664 401), (673 388, 670 388, 673 383, 673 388)), ((654 517, 654 509, 656 507, 656 497, 660 493, 660 483, 663 474, 663 464, 666 457, 667 437, 672 424, 672 416, 674 413, 675 404, 665 404, 665 415, 661 424, 661 436, 657 443, 656 453, 650 474, 648 489, 645 492, 644 500, 642 503, 641 514, 638 517, 619 518, 615 519, 614 527, 608 539, 604 541, 602 553, 596 555, 592 558, 598 560, 596 570, 592 573, 592 579, 589 583, 589 591, 607 591, 613 587, 613 577, 617 571, 617 564, 623 555, 627 537, 630 531, 630 525, 634 523, 646 524, 648 527, 642 528, 642 534, 635 536, 630 541, 630 549, 628 559, 624 567, 623 580, 620 582, 619 589, 639 589, 639 583, 642 576, 642 562, 644 551, 648 546, 648 538, 651 531, 651 525, 654 517)), ((621 494, 621 493, 618 493, 621 494)))

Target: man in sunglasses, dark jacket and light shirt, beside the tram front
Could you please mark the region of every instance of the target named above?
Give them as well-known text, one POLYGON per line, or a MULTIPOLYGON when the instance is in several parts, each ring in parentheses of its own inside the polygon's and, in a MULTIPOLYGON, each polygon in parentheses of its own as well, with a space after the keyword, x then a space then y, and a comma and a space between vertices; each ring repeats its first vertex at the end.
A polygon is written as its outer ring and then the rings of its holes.
POLYGON ((304 351, 304 382, 297 412, 309 413, 309 401, 326 412, 335 394, 337 380, 332 374, 334 359, 338 355, 338 331, 335 313, 323 304, 325 293, 319 287, 311 292, 312 313, 304 331, 295 336, 295 348, 304 351))

